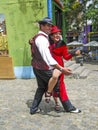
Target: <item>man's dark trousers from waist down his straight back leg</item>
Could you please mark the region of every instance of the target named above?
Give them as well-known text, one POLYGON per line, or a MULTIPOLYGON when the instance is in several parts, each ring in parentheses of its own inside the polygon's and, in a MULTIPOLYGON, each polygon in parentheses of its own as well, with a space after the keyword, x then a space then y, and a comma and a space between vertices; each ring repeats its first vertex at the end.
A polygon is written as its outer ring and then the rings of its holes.
POLYGON ((36 90, 31 109, 36 111, 42 100, 43 94, 47 91, 49 79, 52 77, 53 70, 38 70, 33 68, 36 76, 38 88, 36 90))

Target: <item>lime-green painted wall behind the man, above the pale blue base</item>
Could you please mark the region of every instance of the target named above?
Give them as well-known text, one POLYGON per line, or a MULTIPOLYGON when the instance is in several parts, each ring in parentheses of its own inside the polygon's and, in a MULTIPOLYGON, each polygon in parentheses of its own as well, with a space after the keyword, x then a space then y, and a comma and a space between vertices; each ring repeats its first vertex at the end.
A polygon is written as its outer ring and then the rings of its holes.
POLYGON ((37 21, 47 16, 46 0, 0 0, 5 15, 9 56, 14 66, 31 65, 28 40, 38 31, 37 21))

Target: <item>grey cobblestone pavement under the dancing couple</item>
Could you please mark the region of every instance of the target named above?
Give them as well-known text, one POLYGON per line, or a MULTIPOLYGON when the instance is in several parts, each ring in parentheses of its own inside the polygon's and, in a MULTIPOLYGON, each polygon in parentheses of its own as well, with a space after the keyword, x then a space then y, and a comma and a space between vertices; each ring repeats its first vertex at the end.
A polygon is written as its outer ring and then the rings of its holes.
POLYGON ((82 112, 54 111, 53 99, 40 104, 43 112, 29 114, 35 79, 0 80, 0 130, 98 130, 98 64, 85 64, 92 70, 86 79, 66 78, 72 103, 82 112))

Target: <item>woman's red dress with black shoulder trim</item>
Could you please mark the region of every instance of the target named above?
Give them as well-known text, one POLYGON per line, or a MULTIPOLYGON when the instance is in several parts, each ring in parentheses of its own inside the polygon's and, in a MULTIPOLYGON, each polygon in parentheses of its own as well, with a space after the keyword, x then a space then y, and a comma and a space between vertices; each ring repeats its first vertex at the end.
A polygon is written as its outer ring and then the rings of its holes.
MULTIPOLYGON (((53 43, 50 46, 50 51, 51 51, 52 56, 54 57, 54 59, 62 67, 64 67, 63 59, 69 60, 69 59, 72 58, 72 55, 70 53, 68 53, 68 48, 67 48, 66 44, 63 41, 60 41, 58 43, 53 43)), ((66 91, 66 85, 64 83, 64 74, 63 73, 60 75, 59 91, 60 91, 61 101, 68 100, 68 95, 67 95, 67 91, 66 91)), ((54 96, 57 96, 57 94, 55 92, 54 92, 54 96)))

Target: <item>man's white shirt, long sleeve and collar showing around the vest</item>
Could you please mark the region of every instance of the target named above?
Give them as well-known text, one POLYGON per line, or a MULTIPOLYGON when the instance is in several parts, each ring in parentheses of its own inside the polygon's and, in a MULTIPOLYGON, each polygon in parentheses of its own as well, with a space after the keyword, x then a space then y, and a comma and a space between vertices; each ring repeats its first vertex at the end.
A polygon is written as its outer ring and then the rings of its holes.
MULTIPOLYGON (((48 35, 42 31, 39 31, 39 33, 44 34, 45 36, 48 37, 48 35)), ((52 65, 58 64, 50 53, 49 41, 46 37, 44 37, 42 35, 38 36, 35 40, 35 44, 36 44, 41 56, 43 57, 44 61, 49 66, 49 69, 53 68, 52 65)))

